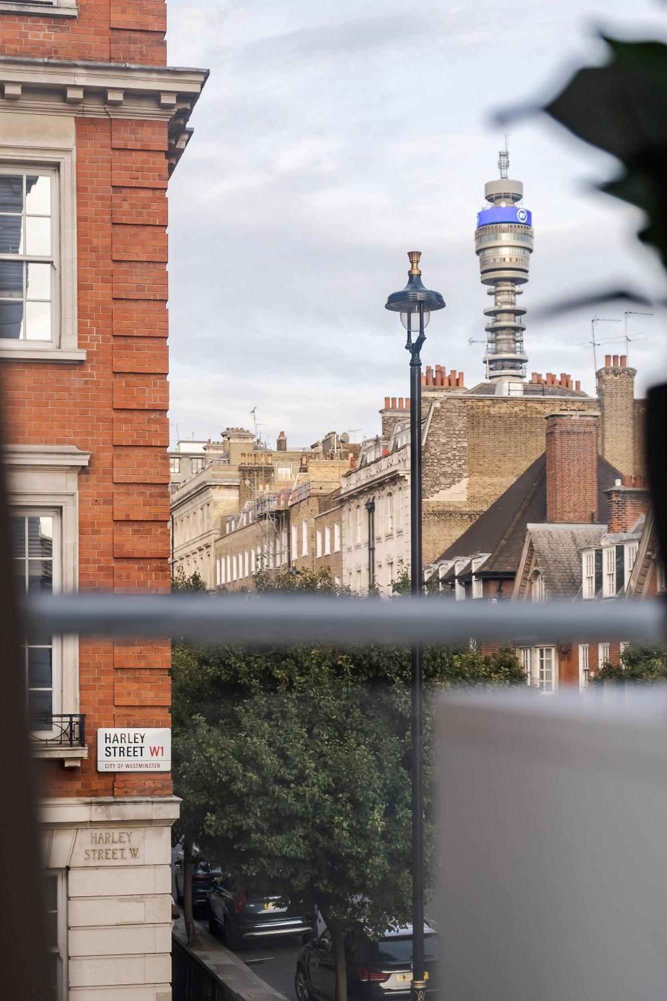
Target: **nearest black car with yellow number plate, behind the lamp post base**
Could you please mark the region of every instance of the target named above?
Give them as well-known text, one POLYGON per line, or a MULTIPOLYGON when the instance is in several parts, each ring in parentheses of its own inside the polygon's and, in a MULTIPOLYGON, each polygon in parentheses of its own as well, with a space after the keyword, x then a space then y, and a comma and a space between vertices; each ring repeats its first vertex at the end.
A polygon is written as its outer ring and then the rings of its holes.
MULTIPOLYGON (((438 935, 424 926, 427 994, 437 990, 438 935)), ((404 1001, 413 979, 411 925, 387 932, 374 942, 363 931, 346 936, 348 996, 351 1001, 404 1001)), ((335 1001, 336 964, 330 932, 301 950, 296 960, 294 989, 298 1001, 335 1001)))

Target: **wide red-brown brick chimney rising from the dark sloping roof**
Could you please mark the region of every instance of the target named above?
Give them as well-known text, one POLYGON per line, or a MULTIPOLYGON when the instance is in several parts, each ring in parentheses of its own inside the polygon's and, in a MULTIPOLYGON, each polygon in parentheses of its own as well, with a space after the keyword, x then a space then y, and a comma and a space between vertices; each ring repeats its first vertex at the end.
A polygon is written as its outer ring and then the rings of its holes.
POLYGON ((547 416, 547 521, 598 521, 598 424, 595 410, 547 416))

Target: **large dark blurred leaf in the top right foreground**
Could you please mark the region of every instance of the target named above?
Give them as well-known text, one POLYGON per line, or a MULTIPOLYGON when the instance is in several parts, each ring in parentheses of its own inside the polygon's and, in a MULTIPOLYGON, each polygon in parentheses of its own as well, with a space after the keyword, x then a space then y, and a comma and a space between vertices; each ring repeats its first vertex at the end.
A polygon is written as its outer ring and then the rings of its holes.
POLYGON ((667 266, 667 46, 604 40, 609 62, 579 70, 545 110, 620 160, 618 177, 600 188, 646 212, 640 239, 667 266))

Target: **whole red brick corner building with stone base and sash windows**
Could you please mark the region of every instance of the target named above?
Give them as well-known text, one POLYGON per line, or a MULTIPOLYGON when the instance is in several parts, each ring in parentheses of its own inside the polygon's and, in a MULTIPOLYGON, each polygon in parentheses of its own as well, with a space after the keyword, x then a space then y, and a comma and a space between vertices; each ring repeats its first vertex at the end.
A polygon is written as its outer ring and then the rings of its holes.
MULTIPOLYGON (((169 589, 166 187, 206 74, 167 68, 165 16, 0 0, 0 356, 27 590, 169 589)), ((36 635, 25 669, 58 996, 163 1001, 177 801, 168 773, 98 771, 95 742, 169 726, 168 642, 36 635)))

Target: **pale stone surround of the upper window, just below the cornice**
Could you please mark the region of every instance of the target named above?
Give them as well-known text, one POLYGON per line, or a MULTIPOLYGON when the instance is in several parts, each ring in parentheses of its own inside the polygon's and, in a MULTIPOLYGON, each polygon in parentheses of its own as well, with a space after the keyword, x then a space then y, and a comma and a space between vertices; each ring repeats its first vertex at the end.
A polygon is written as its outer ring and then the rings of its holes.
MULTIPOLYGON (((9 9, 2 4, 3 9, 9 9)), ((24 13, 35 13, 35 8, 28 9, 21 4, 18 8, 24 13)), ((63 8, 64 9, 64 8, 63 8)), ((75 8, 73 8, 75 9, 75 8)), ((0 11, 1 13, 2 11, 0 11)), ((40 12, 42 13, 42 12, 40 12)), ((49 14, 55 13, 55 8, 49 14)), ((3 144, 0 149, 0 170, 11 173, 13 170, 36 172, 49 171, 55 175, 53 194, 53 246, 56 276, 54 279, 53 329, 50 341, 44 340, 0 340, 0 357, 21 358, 33 361, 85 361, 86 352, 78 347, 77 338, 77 243, 76 243, 76 174, 74 169, 74 119, 71 123, 63 121, 59 134, 63 138, 65 130, 71 133, 71 146, 50 148, 42 146, 47 116, 33 115, 33 128, 26 138, 16 130, 12 123, 12 115, 6 116, 3 123, 3 144)), ((49 125, 53 121, 48 116, 49 125)), ((48 134, 48 133, 47 133, 48 134)))

